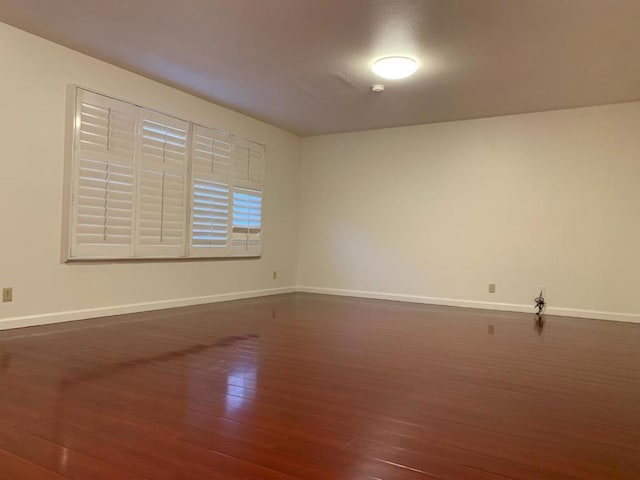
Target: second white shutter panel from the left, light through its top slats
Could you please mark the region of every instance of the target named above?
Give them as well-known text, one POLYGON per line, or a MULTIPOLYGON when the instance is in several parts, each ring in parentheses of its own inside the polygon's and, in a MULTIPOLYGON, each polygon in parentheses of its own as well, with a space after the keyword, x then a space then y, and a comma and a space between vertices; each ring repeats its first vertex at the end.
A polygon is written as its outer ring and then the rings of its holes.
POLYGON ((188 123, 142 110, 136 256, 185 255, 188 123))

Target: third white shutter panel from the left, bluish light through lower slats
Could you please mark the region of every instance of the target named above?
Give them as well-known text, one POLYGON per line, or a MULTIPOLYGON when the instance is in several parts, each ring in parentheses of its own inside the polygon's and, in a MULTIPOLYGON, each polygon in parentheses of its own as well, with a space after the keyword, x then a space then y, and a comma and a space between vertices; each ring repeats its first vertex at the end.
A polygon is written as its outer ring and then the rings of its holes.
POLYGON ((191 249, 198 257, 227 255, 233 137, 194 125, 191 146, 191 249))

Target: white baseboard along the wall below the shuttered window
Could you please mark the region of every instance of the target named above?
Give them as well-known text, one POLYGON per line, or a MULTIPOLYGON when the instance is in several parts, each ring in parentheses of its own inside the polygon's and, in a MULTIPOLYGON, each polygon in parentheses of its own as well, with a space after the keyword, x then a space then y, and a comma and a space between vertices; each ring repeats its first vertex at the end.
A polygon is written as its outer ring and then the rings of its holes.
POLYGON ((88 318, 108 317, 125 313, 147 312, 162 310, 165 308, 187 307, 202 305, 205 303, 225 302, 228 300, 241 300, 244 298, 265 297, 281 293, 295 292, 295 287, 270 288, 265 290, 251 290, 246 292, 221 293, 218 295, 205 295, 202 297, 176 298, 171 300, 159 300, 155 302, 132 303, 129 305, 117 305, 113 307, 88 308, 84 310, 71 310, 67 312, 45 313, 42 315, 27 315, 24 317, 9 317, 0 319, 0 330, 10 328, 33 327, 36 325, 48 325, 50 323, 71 322, 74 320, 86 320, 88 318))

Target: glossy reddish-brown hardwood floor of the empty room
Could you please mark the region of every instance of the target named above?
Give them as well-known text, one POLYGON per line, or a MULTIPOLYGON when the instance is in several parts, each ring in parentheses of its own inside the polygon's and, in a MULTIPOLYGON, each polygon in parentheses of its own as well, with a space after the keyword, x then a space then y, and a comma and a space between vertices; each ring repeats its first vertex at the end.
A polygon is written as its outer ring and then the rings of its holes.
POLYGON ((0 332, 0 479, 640 479, 640 325, 291 294, 0 332))

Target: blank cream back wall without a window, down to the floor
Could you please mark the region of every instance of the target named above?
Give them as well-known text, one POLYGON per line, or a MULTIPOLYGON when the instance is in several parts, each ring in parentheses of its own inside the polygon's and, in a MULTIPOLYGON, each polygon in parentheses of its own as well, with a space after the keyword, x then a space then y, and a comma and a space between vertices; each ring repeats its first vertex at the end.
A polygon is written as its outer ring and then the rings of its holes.
POLYGON ((639 127, 627 103, 303 139, 298 285, 528 311, 543 285, 638 321, 639 127))

